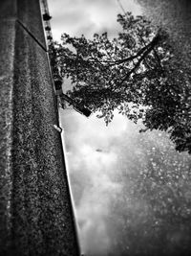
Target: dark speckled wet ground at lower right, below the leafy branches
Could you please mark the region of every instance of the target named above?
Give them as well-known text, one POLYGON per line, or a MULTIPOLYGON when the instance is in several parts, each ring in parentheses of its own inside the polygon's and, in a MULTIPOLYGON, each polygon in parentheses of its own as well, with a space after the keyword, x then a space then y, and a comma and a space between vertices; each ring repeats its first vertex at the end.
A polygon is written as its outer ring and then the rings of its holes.
POLYGON ((190 255, 190 157, 152 134, 134 138, 133 149, 123 145, 124 162, 133 159, 117 174, 123 190, 111 205, 111 255, 190 255))

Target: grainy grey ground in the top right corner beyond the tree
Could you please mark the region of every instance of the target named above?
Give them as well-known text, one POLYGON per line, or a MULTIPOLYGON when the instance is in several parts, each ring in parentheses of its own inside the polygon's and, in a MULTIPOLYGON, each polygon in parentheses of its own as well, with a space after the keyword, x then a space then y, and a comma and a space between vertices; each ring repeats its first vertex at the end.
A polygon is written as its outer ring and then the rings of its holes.
POLYGON ((163 27, 171 36, 177 58, 191 66, 191 1, 190 0, 137 0, 152 22, 163 27))

